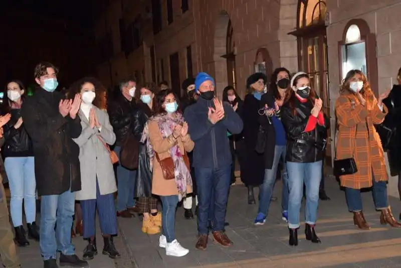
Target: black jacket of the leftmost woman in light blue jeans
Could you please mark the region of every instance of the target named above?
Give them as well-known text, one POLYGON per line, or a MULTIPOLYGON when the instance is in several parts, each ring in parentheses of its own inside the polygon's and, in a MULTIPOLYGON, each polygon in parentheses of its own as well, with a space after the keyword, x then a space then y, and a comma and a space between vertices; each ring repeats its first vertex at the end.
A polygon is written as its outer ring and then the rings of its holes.
POLYGON ((12 109, 11 119, 3 127, 5 138, 3 154, 5 158, 34 156, 32 140, 25 129, 24 123, 18 129, 14 127, 21 116, 21 109, 12 109))

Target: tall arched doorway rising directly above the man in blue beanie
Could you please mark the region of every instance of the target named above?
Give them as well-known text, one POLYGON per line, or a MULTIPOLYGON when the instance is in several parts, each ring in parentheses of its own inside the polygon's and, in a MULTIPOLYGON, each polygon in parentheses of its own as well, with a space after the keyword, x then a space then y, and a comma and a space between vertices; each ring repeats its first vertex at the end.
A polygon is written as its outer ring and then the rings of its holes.
MULTIPOLYGON (((216 21, 213 58, 215 62, 217 94, 222 94, 223 89, 227 85, 234 86, 238 91, 234 28, 226 11, 220 12, 216 21)), ((238 93, 241 94, 241 92, 238 93)))

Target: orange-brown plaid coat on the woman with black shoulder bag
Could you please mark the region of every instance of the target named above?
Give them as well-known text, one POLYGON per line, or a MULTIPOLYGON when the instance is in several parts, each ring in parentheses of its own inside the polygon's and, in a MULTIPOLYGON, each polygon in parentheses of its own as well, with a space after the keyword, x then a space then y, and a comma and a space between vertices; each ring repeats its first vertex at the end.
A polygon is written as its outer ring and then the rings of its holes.
POLYGON ((354 158, 358 171, 340 177, 341 186, 361 189, 372 186, 372 171, 375 181, 387 181, 384 153, 380 138, 373 124, 384 120, 388 110, 377 105, 373 94, 365 97, 365 106, 357 97, 345 92, 338 97, 335 112, 338 123, 336 158, 354 158))

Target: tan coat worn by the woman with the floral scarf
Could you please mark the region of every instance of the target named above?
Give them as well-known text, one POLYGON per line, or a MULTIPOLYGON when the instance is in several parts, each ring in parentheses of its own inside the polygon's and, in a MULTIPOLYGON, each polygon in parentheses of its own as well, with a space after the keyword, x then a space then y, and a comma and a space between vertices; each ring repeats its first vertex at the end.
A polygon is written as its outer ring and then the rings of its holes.
MULTIPOLYGON (((149 120, 148 127, 150 143, 152 144, 153 150, 158 153, 160 160, 170 157, 168 150, 174 146, 175 143, 171 143, 168 137, 163 138, 157 122, 149 120)), ((182 139, 179 137, 177 142, 180 152, 184 152, 184 150, 186 152, 192 151, 194 143, 189 135, 186 135, 186 137, 182 139)), ((191 193, 192 187, 188 185, 186 192, 191 193)), ((175 180, 164 179, 160 164, 155 157, 153 158, 152 194, 158 196, 178 195, 175 180)))

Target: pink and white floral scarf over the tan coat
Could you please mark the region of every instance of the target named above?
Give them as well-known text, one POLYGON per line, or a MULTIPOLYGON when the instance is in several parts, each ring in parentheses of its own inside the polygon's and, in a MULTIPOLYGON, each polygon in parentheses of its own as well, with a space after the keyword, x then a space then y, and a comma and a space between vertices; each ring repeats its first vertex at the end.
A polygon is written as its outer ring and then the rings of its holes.
MULTIPOLYGON (((149 118, 149 121, 150 120, 157 122, 161 131, 161 136, 163 138, 167 138, 172 134, 172 129, 174 125, 176 124, 182 125, 184 122, 184 119, 180 113, 175 113, 174 118, 165 114, 165 115, 152 116, 149 118)), ((150 169, 153 169, 153 158, 155 152, 149 139, 148 123, 145 124, 141 137, 141 143, 145 142, 146 142, 146 152, 149 155, 150 159, 150 169)), ((192 186, 192 178, 188 168, 184 163, 184 160, 182 158, 182 153, 179 151, 178 144, 171 147, 169 153, 174 163, 175 184, 177 185, 178 189, 178 200, 181 201, 181 199, 186 196, 187 185, 192 186)))

